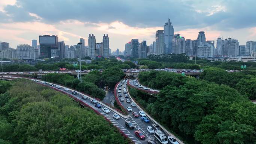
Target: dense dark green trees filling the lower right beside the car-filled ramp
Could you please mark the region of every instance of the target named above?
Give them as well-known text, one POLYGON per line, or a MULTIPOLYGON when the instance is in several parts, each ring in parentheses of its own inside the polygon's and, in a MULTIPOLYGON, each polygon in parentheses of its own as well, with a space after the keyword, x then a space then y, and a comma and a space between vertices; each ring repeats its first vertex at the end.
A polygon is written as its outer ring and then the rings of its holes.
POLYGON ((188 143, 255 144, 256 105, 237 90, 176 73, 142 72, 139 79, 161 89, 147 112, 188 143))

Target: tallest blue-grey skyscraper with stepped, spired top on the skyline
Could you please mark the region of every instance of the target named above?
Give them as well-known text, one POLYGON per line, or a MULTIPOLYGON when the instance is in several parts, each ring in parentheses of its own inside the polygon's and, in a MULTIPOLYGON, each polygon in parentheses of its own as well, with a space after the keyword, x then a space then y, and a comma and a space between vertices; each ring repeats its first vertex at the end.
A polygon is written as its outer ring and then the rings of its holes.
POLYGON ((171 53, 173 51, 173 34, 173 25, 171 25, 170 19, 168 19, 168 22, 164 25, 164 53, 171 53))

